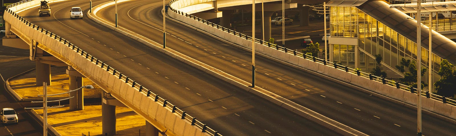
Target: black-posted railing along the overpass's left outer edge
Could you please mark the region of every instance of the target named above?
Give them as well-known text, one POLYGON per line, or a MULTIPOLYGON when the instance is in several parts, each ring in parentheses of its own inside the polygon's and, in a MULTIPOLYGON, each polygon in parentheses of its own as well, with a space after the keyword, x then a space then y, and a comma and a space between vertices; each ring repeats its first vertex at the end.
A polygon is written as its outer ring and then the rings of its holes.
MULTIPOLYGON (((104 63, 103 61, 99 60, 98 58, 95 58, 93 55, 90 55, 83 49, 72 44, 67 39, 64 39, 63 37, 58 36, 57 34, 54 34, 47 29, 41 28, 40 26, 27 21, 26 19, 24 19, 20 15, 16 14, 12 10, 12 9, 18 10, 17 8, 15 8, 16 5, 21 5, 21 4, 30 2, 30 1, 34 1, 34 0, 24 0, 24 1, 21 1, 18 3, 14 3, 12 5, 7 6, 5 11, 6 11, 6 13, 9 13, 10 15, 14 16, 16 19, 21 21, 23 24, 25 24, 29 28, 35 29, 36 31, 39 31, 39 33, 44 34, 44 35, 48 36, 49 38, 58 41, 58 43, 66 45, 67 48, 73 50, 74 53, 80 54, 80 56, 85 58, 86 61, 89 61, 91 64, 96 65, 96 67, 103 69, 105 71, 105 73, 109 73, 110 75, 118 78, 118 80, 122 81, 122 83, 124 83, 124 85, 127 85, 128 87, 133 88, 137 92, 140 92, 140 94, 142 94, 145 97, 150 98, 157 104, 160 104, 163 108, 165 108, 167 111, 171 112, 172 114, 178 116, 178 118, 180 118, 181 120, 185 121, 186 123, 190 124, 191 126, 196 127, 202 133, 202 135, 195 134, 194 136, 222 136, 221 134, 218 133, 218 131, 211 129, 206 124, 202 123, 201 121, 198 121, 195 117, 190 116, 185 111, 182 111, 181 109, 176 107, 176 105, 171 104, 170 102, 168 102, 168 100, 164 99, 163 97, 158 96, 157 94, 152 92, 150 89, 143 87, 142 85, 140 85, 133 79, 122 74, 120 71, 118 71, 115 68, 111 67, 110 65, 104 63)), ((36 0, 36 1, 38 1, 38 0, 36 0)), ((124 93, 128 93, 128 92, 125 91, 124 93)), ((136 96, 134 98, 136 98, 136 96)), ((142 102, 142 99, 140 99, 140 100, 142 102)), ((133 100, 128 100, 128 101, 133 101, 133 100)), ((136 101, 139 101, 139 100, 136 99, 136 101)), ((139 104, 139 102, 138 102, 138 104, 139 104)), ((179 128, 177 128, 177 129, 179 130, 179 128)), ((180 129, 183 129, 183 128, 180 128, 180 129)))

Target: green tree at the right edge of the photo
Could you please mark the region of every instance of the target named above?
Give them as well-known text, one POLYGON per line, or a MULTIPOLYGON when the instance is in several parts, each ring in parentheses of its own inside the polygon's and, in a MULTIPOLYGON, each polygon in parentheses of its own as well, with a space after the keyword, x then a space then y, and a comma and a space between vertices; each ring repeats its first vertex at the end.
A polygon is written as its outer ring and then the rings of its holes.
POLYGON ((456 70, 453 67, 446 59, 440 62, 440 80, 434 83, 435 91, 440 96, 454 97, 456 94, 456 70))

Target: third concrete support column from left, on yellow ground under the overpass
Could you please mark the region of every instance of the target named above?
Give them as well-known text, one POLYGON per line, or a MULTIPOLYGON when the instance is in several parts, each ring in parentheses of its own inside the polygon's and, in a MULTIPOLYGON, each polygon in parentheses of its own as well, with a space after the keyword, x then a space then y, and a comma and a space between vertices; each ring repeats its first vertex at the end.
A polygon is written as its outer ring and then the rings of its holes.
MULTIPOLYGON (((101 96, 104 96, 104 91, 101 91, 101 96)), ((102 133, 103 136, 116 135, 116 113, 115 106, 101 103, 101 116, 102 116, 102 133)))

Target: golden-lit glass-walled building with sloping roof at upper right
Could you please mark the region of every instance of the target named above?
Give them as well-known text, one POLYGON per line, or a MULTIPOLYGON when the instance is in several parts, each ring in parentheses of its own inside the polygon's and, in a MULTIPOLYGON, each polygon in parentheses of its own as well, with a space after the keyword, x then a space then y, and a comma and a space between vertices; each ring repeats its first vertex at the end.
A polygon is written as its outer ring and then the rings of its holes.
MULTIPOLYGON (((330 50, 332 52, 330 61, 350 68, 360 68, 362 71, 370 73, 377 65, 374 56, 380 54, 383 58, 383 71, 390 71, 388 77, 395 78, 403 76, 403 73, 395 68, 402 58, 416 62, 417 44, 414 41, 365 14, 357 7, 332 6, 330 10, 332 13, 330 15, 331 38, 328 42, 332 49, 330 50), (356 42, 346 42, 353 39, 356 39, 356 42)), ((428 54, 427 49, 421 48, 422 68, 427 68, 429 65, 428 54)), ((435 54, 432 58, 433 69, 438 71, 443 59, 435 54)), ((427 80, 427 75, 423 77, 423 81, 427 80)), ((440 79, 439 75, 434 75, 434 81, 440 79)))

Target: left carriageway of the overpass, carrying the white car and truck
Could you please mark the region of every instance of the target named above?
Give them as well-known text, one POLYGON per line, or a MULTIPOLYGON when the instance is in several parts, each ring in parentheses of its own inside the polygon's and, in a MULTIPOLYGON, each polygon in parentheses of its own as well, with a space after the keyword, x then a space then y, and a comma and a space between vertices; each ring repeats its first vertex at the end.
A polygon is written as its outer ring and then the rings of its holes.
MULTIPOLYGON (((107 1, 93 0, 93 5, 107 1)), ((50 6, 50 17, 39 17, 34 8, 19 15, 69 40, 224 136, 339 135, 88 18, 70 19, 71 7, 87 13, 86 0, 50 6)))

